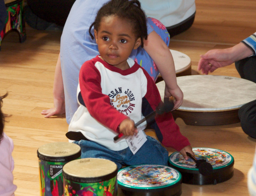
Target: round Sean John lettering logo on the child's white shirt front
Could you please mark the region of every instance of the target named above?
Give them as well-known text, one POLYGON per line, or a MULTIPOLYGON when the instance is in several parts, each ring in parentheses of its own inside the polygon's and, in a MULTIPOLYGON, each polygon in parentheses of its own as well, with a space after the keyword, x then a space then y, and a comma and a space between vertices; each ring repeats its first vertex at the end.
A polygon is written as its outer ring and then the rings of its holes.
POLYGON ((129 115, 132 113, 135 104, 134 95, 131 90, 127 89, 123 92, 122 87, 114 89, 109 93, 110 104, 115 107, 119 112, 129 115))

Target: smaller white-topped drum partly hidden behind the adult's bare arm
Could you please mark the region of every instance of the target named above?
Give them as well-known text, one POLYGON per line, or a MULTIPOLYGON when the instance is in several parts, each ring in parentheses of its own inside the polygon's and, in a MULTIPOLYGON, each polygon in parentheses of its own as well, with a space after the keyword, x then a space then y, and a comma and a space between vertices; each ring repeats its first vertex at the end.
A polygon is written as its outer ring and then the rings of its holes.
MULTIPOLYGON (((172 53, 174 65, 175 65, 175 72, 176 76, 186 76, 191 75, 191 59, 188 55, 181 53, 177 50, 170 50, 172 53)), ((159 74, 158 80, 156 81, 162 81, 162 76, 159 74)))

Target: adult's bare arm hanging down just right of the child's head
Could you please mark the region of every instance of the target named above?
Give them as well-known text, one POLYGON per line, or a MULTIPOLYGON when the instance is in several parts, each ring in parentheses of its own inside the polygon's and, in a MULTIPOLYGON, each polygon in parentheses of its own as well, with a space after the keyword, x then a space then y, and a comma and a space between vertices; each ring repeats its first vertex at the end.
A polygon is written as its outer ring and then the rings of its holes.
POLYGON ((147 40, 144 40, 144 49, 153 59, 163 77, 165 82, 164 96, 173 95, 176 100, 173 110, 177 109, 182 104, 183 93, 177 85, 174 61, 168 46, 155 31, 152 31, 147 40))

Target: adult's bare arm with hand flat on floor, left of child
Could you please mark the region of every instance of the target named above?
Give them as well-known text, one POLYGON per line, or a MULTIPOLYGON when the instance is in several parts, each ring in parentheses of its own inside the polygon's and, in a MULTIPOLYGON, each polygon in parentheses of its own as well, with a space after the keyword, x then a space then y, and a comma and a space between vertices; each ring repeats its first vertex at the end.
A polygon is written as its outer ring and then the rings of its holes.
POLYGON ((45 115, 45 118, 48 118, 53 115, 61 115, 65 113, 65 96, 64 96, 64 87, 61 74, 61 59, 60 55, 56 63, 55 74, 54 74, 54 83, 53 83, 53 103, 54 107, 48 110, 43 110, 42 115, 45 115))

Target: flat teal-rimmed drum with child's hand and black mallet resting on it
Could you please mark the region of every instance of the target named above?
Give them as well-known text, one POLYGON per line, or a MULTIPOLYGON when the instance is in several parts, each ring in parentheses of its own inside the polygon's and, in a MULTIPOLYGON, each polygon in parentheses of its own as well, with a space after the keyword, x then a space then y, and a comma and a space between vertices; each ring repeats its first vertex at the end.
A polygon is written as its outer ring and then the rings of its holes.
POLYGON ((185 160, 180 152, 169 156, 168 163, 182 174, 182 182, 187 184, 217 184, 227 181, 234 173, 234 158, 228 152, 214 148, 193 148, 195 158, 204 159, 212 165, 213 172, 208 175, 199 173, 192 159, 185 160))

